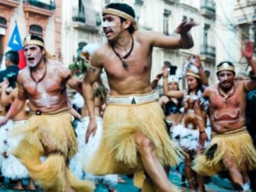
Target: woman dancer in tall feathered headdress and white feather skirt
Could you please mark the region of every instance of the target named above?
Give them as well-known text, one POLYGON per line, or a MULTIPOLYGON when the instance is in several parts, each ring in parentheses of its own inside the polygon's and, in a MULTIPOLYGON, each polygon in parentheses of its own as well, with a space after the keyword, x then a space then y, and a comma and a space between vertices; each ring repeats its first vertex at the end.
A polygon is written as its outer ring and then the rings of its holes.
MULTIPOLYGON (((168 72, 164 70, 164 76, 167 74, 168 72)), ((183 74, 186 75, 187 80, 188 88, 186 91, 169 91, 168 86, 166 86, 167 84, 164 84, 164 94, 171 98, 183 99, 184 105, 182 121, 171 128, 171 138, 173 138, 173 140, 187 153, 184 156, 184 159, 185 175, 189 182, 189 188, 196 190, 198 186, 198 191, 204 191, 203 177, 197 175, 191 169, 191 163, 195 154, 199 152, 199 131, 194 114, 194 104, 200 98, 204 86, 208 85, 208 80, 203 72, 203 67, 198 56, 187 58, 187 61, 184 64, 183 74)), ((210 128, 208 131, 210 131, 210 128)), ((208 138, 210 138, 210 132, 208 132, 208 138)))

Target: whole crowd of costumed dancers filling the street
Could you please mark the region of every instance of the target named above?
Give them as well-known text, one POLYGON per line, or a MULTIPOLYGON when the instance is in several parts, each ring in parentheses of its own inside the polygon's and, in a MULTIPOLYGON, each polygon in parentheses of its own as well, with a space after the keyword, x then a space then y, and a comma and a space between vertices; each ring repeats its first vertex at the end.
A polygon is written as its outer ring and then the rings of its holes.
POLYGON ((17 67, 16 51, 5 54, 2 177, 17 180, 19 190, 28 178, 27 190, 38 185, 44 191, 88 192, 101 182, 116 192, 120 174, 126 174, 139 191, 167 192, 181 191, 168 174, 170 167, 182 167, 182 186, 192 191, 205 191, 205 177, 222 171, 235 190, 256 190, 254 44, 247 41, 242 50, 250 75, 224 61, 216 67, 218 83, 208 85, 200 57, 192 55, 180 77, 167 62, 151 81, 153 48, 192 48, 195 23, 182 22, 174 38, 139 31, 127 4, 108 4, 102 15, 108 41, 83 48, 85 72, 73 73, 56 61, 36 35, 23 41, 25 69, 17 67), (186 90, 179 87, 181 78, 186 90))

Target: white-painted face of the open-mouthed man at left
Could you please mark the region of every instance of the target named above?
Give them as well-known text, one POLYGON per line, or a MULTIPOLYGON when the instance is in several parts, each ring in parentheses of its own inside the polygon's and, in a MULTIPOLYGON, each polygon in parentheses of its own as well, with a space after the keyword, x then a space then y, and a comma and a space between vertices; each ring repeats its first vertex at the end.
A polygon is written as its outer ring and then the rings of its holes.
POLYGON ((41 50, 39 46, 28 44, 24 48, 27 65, 29 67, 36 67, 45 55, 45 50, 41 50))

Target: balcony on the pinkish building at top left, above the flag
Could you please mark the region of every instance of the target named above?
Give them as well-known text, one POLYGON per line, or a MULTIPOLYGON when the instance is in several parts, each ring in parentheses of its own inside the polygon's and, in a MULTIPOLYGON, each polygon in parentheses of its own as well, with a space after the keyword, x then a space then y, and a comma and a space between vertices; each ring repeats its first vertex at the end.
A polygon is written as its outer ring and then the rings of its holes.
POLYGON ((30 13, 43 17, 51 17, 55 9, 54 0, 49 0, 49 4, 37 0, 23 0, 23 10, 27 14, 27 17, 30 13))

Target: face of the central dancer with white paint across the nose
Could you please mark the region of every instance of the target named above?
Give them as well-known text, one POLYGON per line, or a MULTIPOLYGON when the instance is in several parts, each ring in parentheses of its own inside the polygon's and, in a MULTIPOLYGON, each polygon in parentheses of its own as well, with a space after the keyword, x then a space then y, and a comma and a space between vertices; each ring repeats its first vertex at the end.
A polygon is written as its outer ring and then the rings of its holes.
POLYGON ((121 20, 116 15, 105 14, 103 15, 103 31, 108 40, 113 40, 118 31, 121 31, 121 20))

